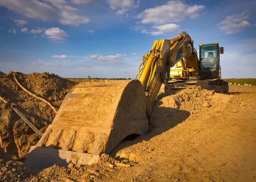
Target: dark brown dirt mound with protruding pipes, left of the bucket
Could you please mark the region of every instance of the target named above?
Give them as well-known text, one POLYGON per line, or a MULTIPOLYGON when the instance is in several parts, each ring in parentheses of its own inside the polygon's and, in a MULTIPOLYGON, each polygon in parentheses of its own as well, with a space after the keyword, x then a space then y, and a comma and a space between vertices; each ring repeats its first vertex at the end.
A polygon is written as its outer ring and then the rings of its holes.
MULTIPOLYGON (((23 91, 15 82, 14 73, 0 72, 0 96, 13 103, 38 130, 44 132, 55 113, 46 103, 23 91)), ((47 72, 28 75, 16 72, 15 75, 26 90, 51 101, 57 109, 67 92, 76 85, 73 81, 47 72)), ((0 101, 0 113, 0 146, 13 157, 26 156, 29 147, 35 145, 40 136, 26 125, 9 104, 0 101)))

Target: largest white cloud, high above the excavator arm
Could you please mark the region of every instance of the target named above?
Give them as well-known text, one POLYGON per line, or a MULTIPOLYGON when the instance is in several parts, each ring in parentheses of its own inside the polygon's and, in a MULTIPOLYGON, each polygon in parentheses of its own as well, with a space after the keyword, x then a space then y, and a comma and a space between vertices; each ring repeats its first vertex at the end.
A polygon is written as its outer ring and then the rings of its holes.
POLYGON ((180 22, 185 17, 196 18, 199 16, 203 5, 187 5, 180 0, 171 0, 165 5, 155 8, 146 9, 137 15, 137 18, 142 19, 141 23, 164 24, 172 22, 180 22))

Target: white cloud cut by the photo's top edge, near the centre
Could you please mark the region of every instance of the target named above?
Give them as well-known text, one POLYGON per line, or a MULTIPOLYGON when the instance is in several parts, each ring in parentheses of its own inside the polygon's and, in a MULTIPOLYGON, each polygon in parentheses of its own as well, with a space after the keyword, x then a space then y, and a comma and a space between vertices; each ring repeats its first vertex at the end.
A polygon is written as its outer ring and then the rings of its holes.
POLYGON ((139 7, 139 0, 134 2, 134 0, 107 0, 112 10, 117 10, 116 14, 124 14, 131 9, 139 7))

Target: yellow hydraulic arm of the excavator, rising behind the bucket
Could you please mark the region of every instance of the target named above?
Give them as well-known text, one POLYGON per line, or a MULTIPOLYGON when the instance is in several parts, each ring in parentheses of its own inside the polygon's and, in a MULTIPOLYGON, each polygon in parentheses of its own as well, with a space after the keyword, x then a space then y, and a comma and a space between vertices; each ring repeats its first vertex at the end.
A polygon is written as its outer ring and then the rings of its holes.
POLYGON ((181 32, 172 39, 154 41, 150 53, 143 56, 143 62, 139 66, 139 80, 145 90, 148 116, 162 83, 167 84, 169 81, 170 68, 180 60, 183 65, 190 64, 195 74, 199 75, 197 53, 193 40, 186 32, 181 32))

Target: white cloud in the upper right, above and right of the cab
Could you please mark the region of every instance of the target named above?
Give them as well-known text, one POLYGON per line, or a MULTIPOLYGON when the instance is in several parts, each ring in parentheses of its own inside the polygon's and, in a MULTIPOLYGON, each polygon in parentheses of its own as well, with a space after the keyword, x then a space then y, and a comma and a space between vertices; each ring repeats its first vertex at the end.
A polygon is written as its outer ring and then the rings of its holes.
POLYGON ((225 31, 226 34, 233 34, 250 27, 250 23, 245 21, 249 18, 248 11, 241 12, 241 14, 231 14, 227 16, 221 23, 218 23, 219 29, 225 31))

